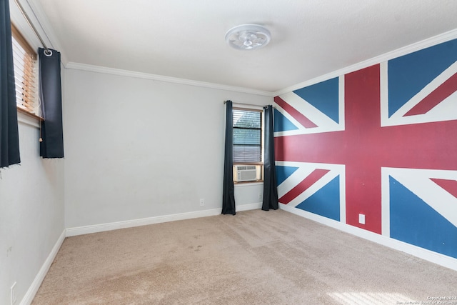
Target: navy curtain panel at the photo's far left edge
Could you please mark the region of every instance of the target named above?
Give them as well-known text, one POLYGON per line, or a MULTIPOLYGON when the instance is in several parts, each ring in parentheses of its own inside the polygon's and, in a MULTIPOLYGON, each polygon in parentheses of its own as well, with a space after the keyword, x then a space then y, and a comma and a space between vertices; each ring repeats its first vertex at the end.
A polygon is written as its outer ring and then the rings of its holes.
POLYGON ((0 92, 0 168, 2 168, 21 162, 8 0, 0 0, 0 92))

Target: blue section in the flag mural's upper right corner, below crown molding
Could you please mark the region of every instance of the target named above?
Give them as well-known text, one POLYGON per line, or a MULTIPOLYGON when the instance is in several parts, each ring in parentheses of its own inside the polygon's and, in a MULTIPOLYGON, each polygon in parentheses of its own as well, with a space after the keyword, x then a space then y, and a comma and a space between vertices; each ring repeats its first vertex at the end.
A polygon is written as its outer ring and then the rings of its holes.
POLYGON ((457 61, 457 39, 388 61, 388 116, 457 61))

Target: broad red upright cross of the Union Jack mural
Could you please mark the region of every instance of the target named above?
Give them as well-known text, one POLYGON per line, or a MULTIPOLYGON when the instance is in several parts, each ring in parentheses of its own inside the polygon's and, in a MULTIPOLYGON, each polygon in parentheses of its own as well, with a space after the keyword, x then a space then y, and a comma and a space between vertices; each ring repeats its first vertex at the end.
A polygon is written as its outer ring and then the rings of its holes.
POLYGON ((381 127, 379 65, 346 74, 344 83, 345 130, 277 136, 275 157, 344 164, 346 224, 381 234, 381 167, 457 170, 457 120, 381 127), (358 223, 362 212, 366 224, 358 223))

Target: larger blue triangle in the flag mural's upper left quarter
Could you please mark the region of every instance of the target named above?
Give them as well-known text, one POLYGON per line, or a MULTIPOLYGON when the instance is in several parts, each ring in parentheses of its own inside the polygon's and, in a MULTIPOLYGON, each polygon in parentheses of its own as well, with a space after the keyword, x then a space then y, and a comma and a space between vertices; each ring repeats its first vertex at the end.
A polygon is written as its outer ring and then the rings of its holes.
POLYGON ((293 93, 338 123, 338 78, 321 81, 318 84, 295 90, 293 93))

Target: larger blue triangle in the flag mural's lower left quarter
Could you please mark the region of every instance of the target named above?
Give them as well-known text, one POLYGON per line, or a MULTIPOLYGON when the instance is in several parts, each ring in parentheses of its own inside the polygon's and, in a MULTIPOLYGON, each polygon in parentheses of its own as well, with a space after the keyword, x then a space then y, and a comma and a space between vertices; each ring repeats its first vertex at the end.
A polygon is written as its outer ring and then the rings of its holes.
POLYGON ((340 176, 336 176, 308 199, 296 206, 298 209, 340 221, 340 176))

